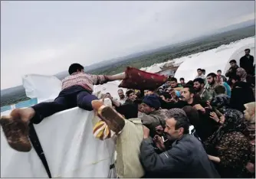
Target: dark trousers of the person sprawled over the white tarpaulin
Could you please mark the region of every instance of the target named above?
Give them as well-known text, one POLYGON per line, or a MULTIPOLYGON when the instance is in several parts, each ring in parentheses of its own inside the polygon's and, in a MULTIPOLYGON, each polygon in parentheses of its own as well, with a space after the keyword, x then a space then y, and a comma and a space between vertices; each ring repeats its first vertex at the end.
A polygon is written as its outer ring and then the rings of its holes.
POLYGON ((71 86, 63 89, 59 96, 54 99, 54 102, 39 103, 32 106, 35 111, 35 116, 31 119, 34 124, 40 123, 44 118, 53 115, 56 112, 61 112, 66 109, 80 107, 87 111, 93 110, 91 102, 97 99, 84 89, 82 86, 71 86))

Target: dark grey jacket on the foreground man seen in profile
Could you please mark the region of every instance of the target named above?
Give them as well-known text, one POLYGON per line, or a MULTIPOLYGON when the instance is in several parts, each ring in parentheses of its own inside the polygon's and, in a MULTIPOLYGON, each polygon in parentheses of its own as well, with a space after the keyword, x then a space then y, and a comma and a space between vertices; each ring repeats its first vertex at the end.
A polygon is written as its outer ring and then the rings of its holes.
POLYGON ((220 177, 202 143, 193 135, 183 135, 161 154, 154 150, 152 138, 146 138, 140 153, 145 170, 159 177, 220 177))

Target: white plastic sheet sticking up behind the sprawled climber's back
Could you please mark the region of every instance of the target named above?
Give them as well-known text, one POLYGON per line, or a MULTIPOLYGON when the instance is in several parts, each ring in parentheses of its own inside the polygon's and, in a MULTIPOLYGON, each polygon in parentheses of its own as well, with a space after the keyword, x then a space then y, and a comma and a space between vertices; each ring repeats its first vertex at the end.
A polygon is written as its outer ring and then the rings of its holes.
POLYGON ((42 101, 53 101, 61 92, 61 80, 56 76, 28 74, 22 77, 26 95, 42 101))

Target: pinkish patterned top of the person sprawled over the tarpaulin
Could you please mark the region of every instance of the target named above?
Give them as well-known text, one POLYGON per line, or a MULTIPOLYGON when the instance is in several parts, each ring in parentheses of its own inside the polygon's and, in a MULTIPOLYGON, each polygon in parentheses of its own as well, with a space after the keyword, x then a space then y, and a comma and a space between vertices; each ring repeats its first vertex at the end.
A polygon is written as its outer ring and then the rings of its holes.
POLYGON ((107 83, 108 78, 105 75, 91 75, 84 72, 75 72, 62 80, 62 89, 71 86, 82 86, 90 92, 94 91, 94 85, 107 83))

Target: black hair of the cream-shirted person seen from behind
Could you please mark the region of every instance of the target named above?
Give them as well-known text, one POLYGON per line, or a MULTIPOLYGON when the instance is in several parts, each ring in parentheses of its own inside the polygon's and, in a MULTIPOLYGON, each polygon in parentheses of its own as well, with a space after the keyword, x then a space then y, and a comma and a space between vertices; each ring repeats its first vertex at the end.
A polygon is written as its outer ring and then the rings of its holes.
POLYGON ((138 117, 138 105, 137 104, 124 104, 116 108, 117 112, 123 115, 126 119, 132 119, 138 117))

